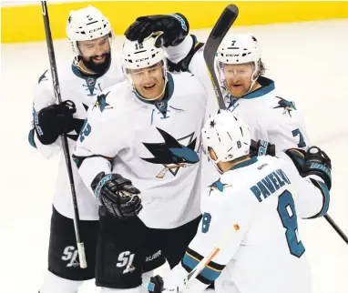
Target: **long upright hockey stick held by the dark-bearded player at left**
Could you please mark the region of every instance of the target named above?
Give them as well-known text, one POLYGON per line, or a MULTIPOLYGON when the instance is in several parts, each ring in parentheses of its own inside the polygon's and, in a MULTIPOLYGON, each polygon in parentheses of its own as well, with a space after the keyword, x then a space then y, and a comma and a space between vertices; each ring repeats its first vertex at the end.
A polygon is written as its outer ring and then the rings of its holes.
MULTIPOLYGON (((55 56, 55 50, 54 50, 53 42, 52 42, 51 27, 49 25, 49 18, 48 18, 46 1, 41 1, 41 8, 42 8, 42 15, 44 17, 44 25, 45 25, 45 33, 46 33, 46 45, 47 45, 47 51, 48 51, 48 57, 49 57, 49 64, 50 64, 51 73, 52 73, 53 88, 55 91, 56 100, 60 104, 60 103, 62 103, 62 97, 60 96, 59 80, 58 80, 58 75, 57 75, 57 71, 56 71, 56 56, 55 56)), ((80 268, 87 268, 85 246, 84 246, 83 242, 81 242, 81 240, 80 240, 80 234, 79 234, 79 228, 78 228, 79 216, 78 216, 78 208, 77 208, 77 193, 75 191, 74 177, 73 177, 71 159, 70 159, 70 154, 69 154, 69 147, 67 144, 67 136, 62 135, 61 140, 62 140, 64 157, 66 158, 67 174, 68 174, 69 181, 70 181, 71 196, 73 199, 74 227, 75 227, 75 234, 77 237, 77 251, 78 251, 78 258, 80 260, 80 268)))

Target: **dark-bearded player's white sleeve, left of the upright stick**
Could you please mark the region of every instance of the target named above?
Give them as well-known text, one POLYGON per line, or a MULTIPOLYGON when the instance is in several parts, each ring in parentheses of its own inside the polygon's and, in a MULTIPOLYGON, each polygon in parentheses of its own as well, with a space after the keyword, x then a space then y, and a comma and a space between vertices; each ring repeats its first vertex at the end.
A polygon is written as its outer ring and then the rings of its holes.
POLYGON ((54 156, 61 150, 60 139, 56 139, 56 142, 51 145, 43 145, 37 137, 40 134, 40 128, 37 126, 38 112, 46 106, 56 104, 52 80, 49 75, 49 70, 46 70, 46 72, 38 79, 33 98, 32 128, 29 131, 28 136, 30 145, 36 147, 40 154, 46 158, 54 156))

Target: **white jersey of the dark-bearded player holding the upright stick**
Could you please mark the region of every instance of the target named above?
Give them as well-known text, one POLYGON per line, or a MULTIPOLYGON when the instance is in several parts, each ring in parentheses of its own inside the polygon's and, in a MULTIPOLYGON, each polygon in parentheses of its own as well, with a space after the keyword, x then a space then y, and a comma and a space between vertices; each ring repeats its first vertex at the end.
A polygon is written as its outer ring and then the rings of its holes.
MULTIPOLYGON (((112 52, 111 60, 111 65, 107 70, 107 73, 98 77, 82 76, 77 67, 72 66, 71 64, 57 65, 62 100, 71 100, 77 107, 77 112, 74 114, 75 130, 67 134, 70 157, 73 153, 74 147, 76 146, 78 133, 86 119, 88 107, 95 102, 97 95, 99 95, 105 88, 113 86, 126 79, 122 74, 120 66, 121 59, 118 52, 112 52)), ((56 104, 56 97, 53 91, 52 76, 50 70, 46 70, 38 79, 38 84, 35 90, 32 121, 33 127, 36 113, 38 113, 42 108, 53 104, 56 104)), ((56 139, 54 144, 45 146, 40 143, 35 130, 32 129, 29 133, 29 142, 46 158, 61 153, 53 205, 61 215, 73 218, 74 209, 72 205, 71 189, 60 138, 56 139)), ((99 217, 96 199, 90 195, 87 187, 85 187, 78 175, 77 167, 73 161, 72 169, 77 193, 79 217, 83 220, 97 220, 99 217)))

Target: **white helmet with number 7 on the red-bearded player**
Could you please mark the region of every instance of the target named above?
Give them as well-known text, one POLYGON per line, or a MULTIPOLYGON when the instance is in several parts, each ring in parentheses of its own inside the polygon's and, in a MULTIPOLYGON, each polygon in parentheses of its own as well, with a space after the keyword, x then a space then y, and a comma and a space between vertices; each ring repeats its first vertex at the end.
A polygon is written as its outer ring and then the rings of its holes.
POLYGON ((256 37, 250 33, 226 36, 216 53, 216 63, 220 73, 220 81, 225 86, 224 65, 253 63, 254 70, 248 94, 260 76, 261 52, 256 37))

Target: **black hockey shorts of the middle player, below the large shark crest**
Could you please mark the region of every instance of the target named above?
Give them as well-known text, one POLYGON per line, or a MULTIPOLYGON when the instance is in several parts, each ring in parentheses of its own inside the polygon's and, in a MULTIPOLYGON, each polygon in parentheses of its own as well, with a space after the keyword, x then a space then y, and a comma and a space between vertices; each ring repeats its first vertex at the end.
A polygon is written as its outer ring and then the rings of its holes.
POLYGON ((136 288, 142 274, 162 266, 179 264, 196 235, 200 217, 174 229, 148 228, 138 218, 120 220, 99 208, 96 285, 106 288, 136 288))

